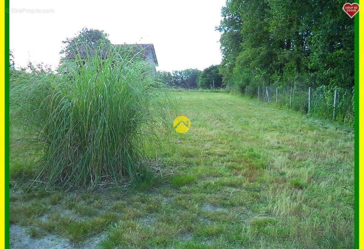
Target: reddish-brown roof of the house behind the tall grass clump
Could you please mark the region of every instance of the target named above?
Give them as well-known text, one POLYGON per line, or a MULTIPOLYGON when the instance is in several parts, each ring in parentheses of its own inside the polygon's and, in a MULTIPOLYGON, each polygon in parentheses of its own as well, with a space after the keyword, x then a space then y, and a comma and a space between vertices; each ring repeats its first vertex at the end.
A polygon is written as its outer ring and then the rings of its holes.
MULTIPOLYGON (((157 56, 155 55, 154 51, 154 45, 153 44, 113 44, 115 47, 132 47, 132 49, 135 49, 135 52, 141 53, 143 59, 150 58, 153 63, 158 66, 157 56)), ((87 57, 92 57, 95 55, 95 52, 97 51, 97 55, 104 58, 105 56, 110 53, 108 47, 100 49, 97 45, 79 45, 72 53, 68 53, 66 56, 67 58, 75 58, 76 55, 80 56, 81 59, 86 59, 87 57)))

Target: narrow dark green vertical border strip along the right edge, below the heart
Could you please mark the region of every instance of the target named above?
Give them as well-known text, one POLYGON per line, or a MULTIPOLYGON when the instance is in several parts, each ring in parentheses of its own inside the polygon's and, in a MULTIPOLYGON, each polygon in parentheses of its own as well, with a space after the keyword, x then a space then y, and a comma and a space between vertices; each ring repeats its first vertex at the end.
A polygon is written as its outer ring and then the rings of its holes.
POLYGON ((354 245, 356 249, 359 249, 359 15, 360 13, 357 13, 354 17, 354 245))

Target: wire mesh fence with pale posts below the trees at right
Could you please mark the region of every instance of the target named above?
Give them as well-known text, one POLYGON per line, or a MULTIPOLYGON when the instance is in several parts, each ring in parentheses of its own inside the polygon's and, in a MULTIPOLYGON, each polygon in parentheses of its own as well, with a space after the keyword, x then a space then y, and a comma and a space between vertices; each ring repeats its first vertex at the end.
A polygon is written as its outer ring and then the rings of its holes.
POLYGON ((245 87, 246 96, 257 98, 266 103, 273 103, 309 115, 339 121, 345 125, 354 125, 353 89, 331 88, 328 86, 312 87, 245 87))

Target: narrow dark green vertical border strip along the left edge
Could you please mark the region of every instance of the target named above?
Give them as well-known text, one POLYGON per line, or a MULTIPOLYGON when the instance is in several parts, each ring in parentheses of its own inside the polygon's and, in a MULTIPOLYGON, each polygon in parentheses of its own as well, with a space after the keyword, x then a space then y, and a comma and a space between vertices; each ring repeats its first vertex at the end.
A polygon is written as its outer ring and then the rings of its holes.
POLYGON ((5 0, 5 236, 4 248, 10 247, 10 223, 9 223, 9 0, 5 0))

